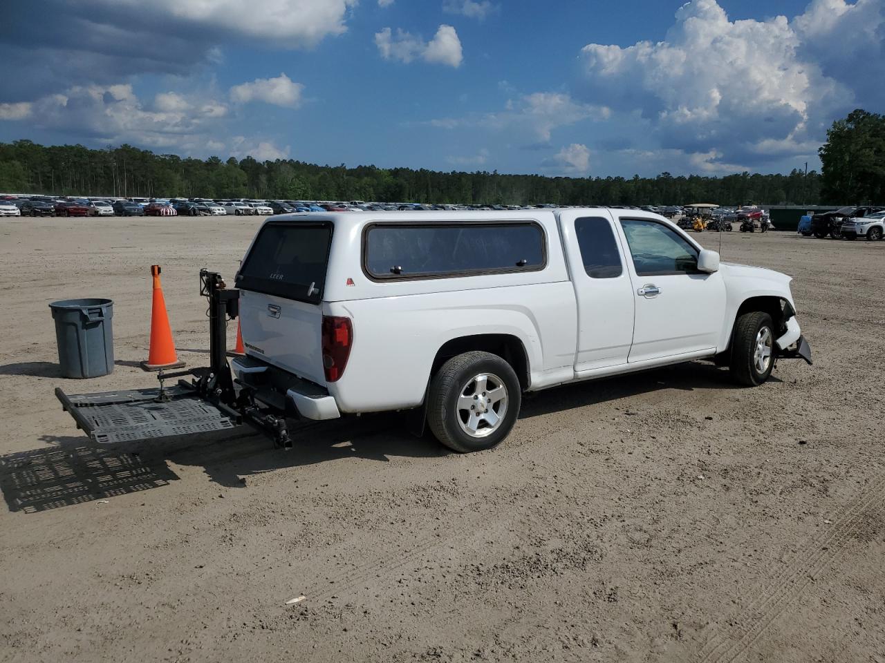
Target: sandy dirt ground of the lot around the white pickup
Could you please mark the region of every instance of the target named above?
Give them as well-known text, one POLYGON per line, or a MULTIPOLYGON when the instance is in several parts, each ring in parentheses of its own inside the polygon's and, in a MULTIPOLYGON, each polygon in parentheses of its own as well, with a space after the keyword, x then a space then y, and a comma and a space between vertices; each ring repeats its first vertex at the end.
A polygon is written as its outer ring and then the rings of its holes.
POLYGON ((399 415, 90 446, 53 388, 156 385, 151 263, 204 364, 197 271, 259 222, 0 222, 0 659, 885 661, 885 242, 724 234, 796 278, 814 351, 758 389, 561 387, 472 455, 399 415), (62 379, 47 305, 95 296, 118 365, 62 379))

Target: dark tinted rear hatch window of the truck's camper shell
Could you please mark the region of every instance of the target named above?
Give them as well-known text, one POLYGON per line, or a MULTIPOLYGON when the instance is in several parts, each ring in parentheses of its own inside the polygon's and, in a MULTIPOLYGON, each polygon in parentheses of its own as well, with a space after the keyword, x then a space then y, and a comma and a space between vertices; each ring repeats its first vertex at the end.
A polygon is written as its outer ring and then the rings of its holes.
POLYGON ((319 302, 331 245, 331 223, 266 224, 237 273, 236 286, 319 302))

